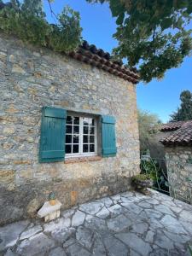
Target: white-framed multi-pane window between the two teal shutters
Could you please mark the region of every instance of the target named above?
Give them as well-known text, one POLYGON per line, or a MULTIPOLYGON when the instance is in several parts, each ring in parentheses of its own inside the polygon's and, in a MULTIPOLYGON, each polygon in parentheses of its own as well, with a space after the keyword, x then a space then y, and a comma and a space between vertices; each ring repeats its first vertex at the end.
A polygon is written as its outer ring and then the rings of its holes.
POLYGON ((94 155, 96 143, 95 118, 67 115, 66 156, 94 155))

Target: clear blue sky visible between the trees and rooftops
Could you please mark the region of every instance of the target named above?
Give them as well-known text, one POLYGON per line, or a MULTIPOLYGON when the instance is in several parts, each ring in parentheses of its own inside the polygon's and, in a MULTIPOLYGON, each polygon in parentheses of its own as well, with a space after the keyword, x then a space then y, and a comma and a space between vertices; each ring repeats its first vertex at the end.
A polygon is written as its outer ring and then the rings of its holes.
MULTIPOLYGON (((61 13, 65 5, 79 11, 83 38, 110 53, 117 41, 113 38, 116 30, 115 19, 108 4, 90 4, 85 0, 55 0, 52 3, 55 14, 61 13)), ((49 22, 54 22, 46 0, 44 7, 49 22)), ((167 71, 164 79, 137 84, 137 107, 156 113, 166 123, 170 119, 169 115, 180 105, 179 96, 183 90, 192 90, 192 56, 186 57, 180 67, 167 71)))

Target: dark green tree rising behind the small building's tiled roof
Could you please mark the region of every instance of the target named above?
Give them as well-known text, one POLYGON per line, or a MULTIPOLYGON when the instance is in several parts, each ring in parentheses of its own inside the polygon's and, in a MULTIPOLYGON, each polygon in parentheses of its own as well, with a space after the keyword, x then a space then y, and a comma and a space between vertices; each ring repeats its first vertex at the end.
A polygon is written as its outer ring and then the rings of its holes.
POLYGON ((186 121, 192 119, 192 93, 189 90, 183 90, 180 94, 181 106, 177 112, 172 113, 171 121, 186 121))

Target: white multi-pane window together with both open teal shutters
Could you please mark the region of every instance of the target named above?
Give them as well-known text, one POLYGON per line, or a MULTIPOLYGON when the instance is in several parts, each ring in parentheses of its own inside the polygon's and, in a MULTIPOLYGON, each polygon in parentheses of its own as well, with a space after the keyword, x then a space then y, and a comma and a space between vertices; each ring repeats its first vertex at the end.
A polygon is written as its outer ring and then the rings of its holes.
POLYGON ((73 156, 116 156, 115 118, 43 107, 39 145, 40 163, 60 162, 73 156))

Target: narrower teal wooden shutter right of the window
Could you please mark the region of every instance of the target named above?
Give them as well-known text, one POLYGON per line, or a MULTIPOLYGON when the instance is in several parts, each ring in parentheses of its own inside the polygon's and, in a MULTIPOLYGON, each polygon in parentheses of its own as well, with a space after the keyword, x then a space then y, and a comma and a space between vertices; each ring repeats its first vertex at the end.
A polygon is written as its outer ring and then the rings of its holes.
POLYGON ((115 118, 102 115, 102 156, 115 156, 116 153, 115 118))

